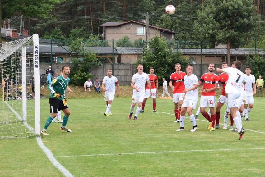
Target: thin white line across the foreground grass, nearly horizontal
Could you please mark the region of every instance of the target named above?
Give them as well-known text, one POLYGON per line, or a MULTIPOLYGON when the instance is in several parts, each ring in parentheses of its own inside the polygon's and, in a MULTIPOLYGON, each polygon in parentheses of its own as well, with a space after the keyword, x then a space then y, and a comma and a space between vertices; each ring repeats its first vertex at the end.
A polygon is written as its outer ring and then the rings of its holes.
POLYGON ((112 156, 112 155, 132 155, 132 154, 155 154, 155 153, 175 153, 175 152, 209 152, 209 151, 238 151, 238 150, 263 150, 265 148, 235 148, 235 149, 212 149, 212 150, 185 150, 185 151, 155 151, 155 152, 128 152, 110 154, 89 154, 78 156, 55 156, 55 157, 87 157, 87 156, 112 156))

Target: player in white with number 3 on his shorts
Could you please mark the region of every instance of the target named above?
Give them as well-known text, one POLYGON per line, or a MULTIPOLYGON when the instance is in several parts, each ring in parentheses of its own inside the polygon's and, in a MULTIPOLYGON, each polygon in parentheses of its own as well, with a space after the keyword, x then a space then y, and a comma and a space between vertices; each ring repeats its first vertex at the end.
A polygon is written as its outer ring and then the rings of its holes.
POLYGON ((198 102, 198 89, 196 87, 198 83, 198 78, 196 75, 192 74, 192 71, 193 71, 193 66, 188 65, 186 67, 187 75, 184 76, 185 90, 183 91, 183 93, 185 93, 185 95, 180 112, 180 120, 179 120, 180 128, 177 129, 176 131, 184 130, 184 121, 185 121, 186 112, 188 113, 189 118, 193 124, 193 128, 190 131, 195 132, 198 129, 194 114, 192 113, 192 110, 196 109, 196 105, 198 102))

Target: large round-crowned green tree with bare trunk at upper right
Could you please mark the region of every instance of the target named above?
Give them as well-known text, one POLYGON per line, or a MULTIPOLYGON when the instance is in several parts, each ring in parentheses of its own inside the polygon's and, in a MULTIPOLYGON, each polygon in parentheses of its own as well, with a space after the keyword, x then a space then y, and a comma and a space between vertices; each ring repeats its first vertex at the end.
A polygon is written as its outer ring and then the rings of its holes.
POLYGON ((230 47, 237 48, 256 25, 254 11, 252 0, 209 0, 198 11, 195 30, 212 46, 225 41, 230 65, 230 47))

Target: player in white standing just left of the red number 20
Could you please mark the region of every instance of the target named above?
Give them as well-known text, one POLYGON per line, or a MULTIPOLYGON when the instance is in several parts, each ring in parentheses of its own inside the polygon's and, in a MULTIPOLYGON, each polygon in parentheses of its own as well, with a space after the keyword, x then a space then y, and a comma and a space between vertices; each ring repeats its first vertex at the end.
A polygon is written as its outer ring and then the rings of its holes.
POLYGON ((143 72, 143 65, 139 64, 137 66, 138 72, 133 75, 131 87, 133 88, 133 98, 132 98, 132 105, 131 105, 131 112, 128 116, 128 119, 132 118, 133 110, 138 102, 138 107, 135 112, 135 116, 133 120, 138 120, 137 116, 140 113, 142 102, 145 95, 145 83, 147 82, 149 89, 150 89, 150 95, 152 96, 152 89, 151 89, 151 83, 149 81, 148 74, 143 72))

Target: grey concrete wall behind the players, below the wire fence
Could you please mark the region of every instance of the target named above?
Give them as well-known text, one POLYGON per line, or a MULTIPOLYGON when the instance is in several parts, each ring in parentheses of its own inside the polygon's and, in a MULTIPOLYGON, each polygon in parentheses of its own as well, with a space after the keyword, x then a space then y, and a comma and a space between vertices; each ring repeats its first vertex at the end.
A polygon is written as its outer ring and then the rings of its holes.
MULTIPOLYGON (((33 66, 33 64, 30 64, 30 65, 33 66)), ((54 70, 54 73, 56 72, 59 73, 59 70, 62 68, 63 65, 64 63, 54 63, 52 67, 52 69, 54 70)), ((68 63, 67 65, 71 68, 72 63, 68 63)), ((48 66, 49 64, 47 63, 40 63, 40 75, 45 74, 45 71, 48 68, 48 66)), ((133 75, 137 73, 137 69, 134 64, 114 63, 114 66, 112 66, 112 64, 104 63, 102 64, 102 66, 92 66, 93 69, 91 71, 91 74, 94 75, 94 78, 91 78, 91 81, 94 82, 95 79, 98 78, 102 82, 103 78, 107 75, 107 70, 112 69, 112 67, 114 67, 113 75, 118 78, 120 85, 130 85, 133 75)), ((221 64, 216 64, 215 67, 221 68, 221 64)), ((241 71, 245 73, 245 65, 242 65, 241 71)), ((29 72, 30 70, 28 70, 27 79, 30 79, 29 72)), ((208 64, 202 65, 202 72, 201 72, 200 64, 193 65, 193 74, 197 75, 198 80, 201 78, 202 74, 207 73, 207 72, 208 72, 208 64)), ((216 74, 219 75, 219 73, 216 73, 216 74)), ((166 78, 168 82, 169 82, 169 79, 170 78, 166 78)))

